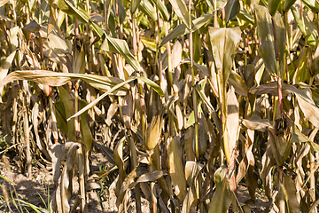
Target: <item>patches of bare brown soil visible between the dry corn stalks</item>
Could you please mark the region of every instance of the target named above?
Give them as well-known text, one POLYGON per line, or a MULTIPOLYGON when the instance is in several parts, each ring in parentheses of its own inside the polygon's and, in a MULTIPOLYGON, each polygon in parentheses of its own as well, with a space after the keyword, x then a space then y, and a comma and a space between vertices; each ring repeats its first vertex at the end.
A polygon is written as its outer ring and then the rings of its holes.
MULTIPOLYGON (((90 174, 110 166, 110 163, 107 162, 105 156, 97 152, 91 154, 90 162, 90 174)), ((12 198, 19 198, 22 201, 27 201, 28 203, 35 205, 36 207, 48 209, 48 194, 51 196, 53 193, 51 168, 50 166, 44 167, 43 165, 39 165, 39 163, 35 163, 32 170, 32 177, 27 178, 25 174, 21 174, 17 164, 17 159, 14 157, 11 159, 6 155, 3 155, 0 161, 0 175, 11 180, 14 184, 11 184, 4 180, 4 178, 0 177, 0 185, 5 185, 10 200, 9 208, 4 199, 5 194, 3 190, 0 190, 0 212, 10 212, 10 209, 12 212, 35 212, 35 210, 21 202, 19 203, 16 201, 16 204, 14 204, 12 202, 12 198)), ((99 187, 94 185, 93 189, 89 189, 89 212, 117 212, 116 196, 114 193, 115 181, 113 181, 115 177, 116 174, 113 174, 113 177, 111 176, 100 180, 97 182, 100 185, 99 187)), ((76 192, 76 189, 74 191, 76 192)), ((76 194, 74 194, 70 199, 71 207, 75 197, 76 194)), ((250 199, 245 186, 238 185, 237 197, 238 201, 243 205, 245 205, 245 201, 250 199)), ((132 204, 128 206, 129 212, 136 212, 134 203, 135 202, 132 202, 132 204)), ((248 206, 250 212, 265 212, 268 207, 268 199, 262 193, 257 193, 256 201, 249 203, 248 206)), ((142 198, 142 212, 150 212, 149 202, 144 198, 142 198)), ((232 212, 231 208, 230 212, 232 212)))

